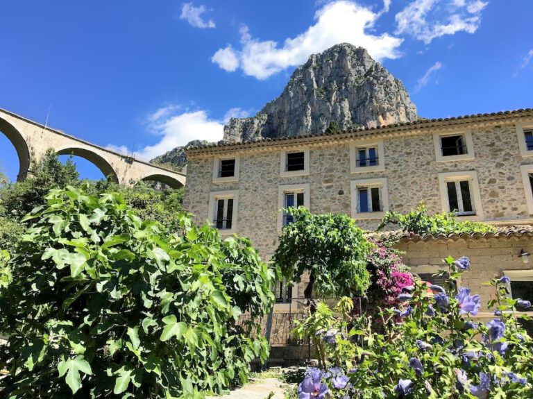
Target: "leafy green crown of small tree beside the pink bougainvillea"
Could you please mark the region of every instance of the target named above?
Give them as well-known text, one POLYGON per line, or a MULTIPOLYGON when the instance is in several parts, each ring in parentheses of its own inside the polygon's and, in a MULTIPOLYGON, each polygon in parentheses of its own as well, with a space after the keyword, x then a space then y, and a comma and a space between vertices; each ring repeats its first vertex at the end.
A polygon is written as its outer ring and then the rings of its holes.
POLYGON ((370 285, 366 257, 370 244, 345 214, 311 214, 305 207, 289 208, 294 218, 283 228, 273 263, 287 281, 300 282, 310 274, 312 289, 323 296, 364 295, 370 285))

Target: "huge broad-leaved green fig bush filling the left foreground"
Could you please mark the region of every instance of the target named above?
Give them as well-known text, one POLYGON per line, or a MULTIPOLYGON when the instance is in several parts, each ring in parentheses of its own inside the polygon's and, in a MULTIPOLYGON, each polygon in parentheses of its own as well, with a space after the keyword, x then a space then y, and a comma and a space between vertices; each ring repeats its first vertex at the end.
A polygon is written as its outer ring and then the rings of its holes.
POLYGON ((275 273, 248 239, 178 219, 170 230, 72 187, 24 218, 0 291, 3 397, 201 398, 246 382, 267 358, 253 320, 275 273))

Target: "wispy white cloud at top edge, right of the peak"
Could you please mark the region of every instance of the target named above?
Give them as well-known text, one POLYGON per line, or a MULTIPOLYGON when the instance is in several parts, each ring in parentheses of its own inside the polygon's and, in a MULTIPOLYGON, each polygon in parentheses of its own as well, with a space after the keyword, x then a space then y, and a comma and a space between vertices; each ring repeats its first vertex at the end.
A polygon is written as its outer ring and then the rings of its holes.
POLYGON ((430 44, 443 35, 475 33, 487 4, 480 0, 414 0, 396 14, 396 34, 409 34, 430 44))

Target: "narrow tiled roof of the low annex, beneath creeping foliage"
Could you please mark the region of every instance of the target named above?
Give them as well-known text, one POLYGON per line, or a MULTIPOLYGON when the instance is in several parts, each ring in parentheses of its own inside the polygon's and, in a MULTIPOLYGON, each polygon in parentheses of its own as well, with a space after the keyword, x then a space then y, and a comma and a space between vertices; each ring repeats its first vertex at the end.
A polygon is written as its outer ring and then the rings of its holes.
POLYGON ((418 242, 418 241, 458 241, 459 239, 473 240, 473 239, 490 239, 490 238, 520 238, 533 237, 533 226, 531 225, 514 225, 514 226, 496 226, 496 232, 459 232, 449 234, 425 234, 417 235, 412 232, 403 232, 401 230, 394 230, 388 232, 372 232, 371 237, 379 239, 398 239, 400 242, 418 242))

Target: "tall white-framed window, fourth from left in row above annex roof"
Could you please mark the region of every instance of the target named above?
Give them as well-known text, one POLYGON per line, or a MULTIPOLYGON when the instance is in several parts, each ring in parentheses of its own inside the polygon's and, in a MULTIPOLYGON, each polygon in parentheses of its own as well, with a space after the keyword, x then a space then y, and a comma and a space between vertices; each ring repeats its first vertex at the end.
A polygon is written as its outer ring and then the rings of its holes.
POLYGON ((444 212, 482 219, 480 187, 475 171, 439 173, 439 190, 444 212))

